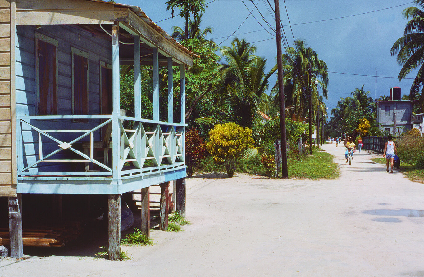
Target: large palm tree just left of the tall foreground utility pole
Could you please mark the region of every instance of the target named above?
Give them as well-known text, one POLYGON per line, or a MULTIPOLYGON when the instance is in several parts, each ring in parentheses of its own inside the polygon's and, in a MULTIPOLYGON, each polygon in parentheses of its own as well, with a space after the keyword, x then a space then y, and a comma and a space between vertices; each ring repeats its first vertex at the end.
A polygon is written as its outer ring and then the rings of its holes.
MULTIPOLYGON (((254 53, 256 47, 245 39, 235 38, 231 47, 222 50, 223 65, 217 88, 218 105, 225 114, 225 121, 232 121, 243 127, 252 127, 259 118, 258 111, 266 113, 269 97, 265 95, 268 80, 276 71, 265 72, 266 59, 254 53)), ((215 124, 216 120, 196 119, 203 124, 215 124)))

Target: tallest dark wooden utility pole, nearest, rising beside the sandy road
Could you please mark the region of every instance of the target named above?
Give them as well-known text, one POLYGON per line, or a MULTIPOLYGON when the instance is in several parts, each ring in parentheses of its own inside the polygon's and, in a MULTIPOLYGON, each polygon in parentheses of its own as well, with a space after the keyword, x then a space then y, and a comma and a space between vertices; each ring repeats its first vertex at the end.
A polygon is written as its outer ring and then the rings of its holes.
POLYGON ((287 170, 287 138, 286 138, 286 113, 284 104, 284 83, 283 83, 283 61, 281 52, 281 25, 280 25, 280 4, 279 0, 274 0, 275 5, 275 32, 277 37, 277 70, 278 70, 278 95, 280 100, 280 133, 281 133, 281 155, 282 155, 282 175, 289 177, 287 170))

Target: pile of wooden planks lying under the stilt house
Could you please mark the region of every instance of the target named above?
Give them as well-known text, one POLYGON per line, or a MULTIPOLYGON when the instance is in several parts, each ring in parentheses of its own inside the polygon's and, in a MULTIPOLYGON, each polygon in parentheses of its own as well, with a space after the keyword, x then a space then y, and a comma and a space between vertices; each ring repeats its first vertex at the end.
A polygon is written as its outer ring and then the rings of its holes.
MULTIPOLYGON (((24 246, 62 247, 68 241, 75 240, 81 233, 81 224, 67 222, 62 227, 39 229, 23 229, 22 241, 24 246), (66 226, 66 227, 64 227, 66 226)), ((9 245, 9 230, 0 228, 0 245, 9 245)))

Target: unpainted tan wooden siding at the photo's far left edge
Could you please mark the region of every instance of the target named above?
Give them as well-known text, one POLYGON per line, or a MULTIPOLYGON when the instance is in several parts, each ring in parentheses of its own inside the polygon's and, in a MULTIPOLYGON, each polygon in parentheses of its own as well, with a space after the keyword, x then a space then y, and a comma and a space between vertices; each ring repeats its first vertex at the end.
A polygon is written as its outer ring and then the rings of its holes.
POLYGON ((0 0, 0 196, 16 196, 16 170, 12 174, 16 163, 16 147, 12 147, 16 141, 12 136, 15 121, 12 120, 11 94, 14 77, 13 55, 11 45, 11 29, 14 29, 14 1, 0 0), (12 16, 11 16, 12 15, 12 16))

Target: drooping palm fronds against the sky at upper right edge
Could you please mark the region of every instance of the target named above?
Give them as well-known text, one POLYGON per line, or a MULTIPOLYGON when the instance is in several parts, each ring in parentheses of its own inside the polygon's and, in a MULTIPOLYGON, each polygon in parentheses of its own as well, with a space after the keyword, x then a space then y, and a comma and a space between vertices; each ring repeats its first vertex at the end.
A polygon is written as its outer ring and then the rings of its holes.
MULTIPOLYGON (((424 0, 415 0, 415 4, 424 8, 424 0)), ((405 8, 402 14, 410 19, 405 25, 404 35, 396 40, 390 53, 397 53, 397 62, 402 66, 398 79, 406 78, 408 73, 418 69, 412 83, 410 93, 420 95, 420 103, 424 105, 424 12, 417 7, 405 8)))

